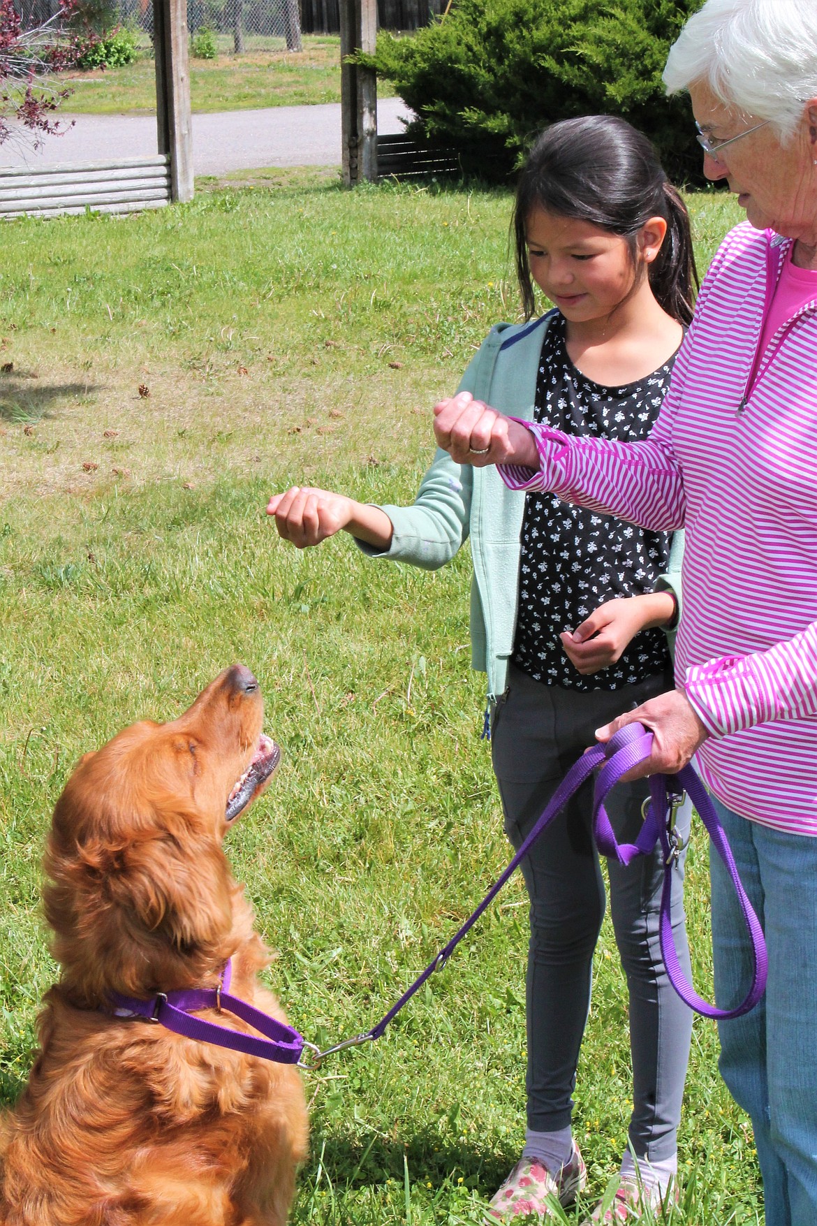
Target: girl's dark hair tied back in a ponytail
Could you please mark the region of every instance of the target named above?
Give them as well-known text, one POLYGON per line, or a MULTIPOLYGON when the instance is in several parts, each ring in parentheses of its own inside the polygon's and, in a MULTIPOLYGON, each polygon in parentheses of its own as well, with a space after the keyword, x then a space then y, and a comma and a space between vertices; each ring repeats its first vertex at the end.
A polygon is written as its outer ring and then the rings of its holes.
POLYGON ((582 115, 551 124, 530 150, 513 208, 516 264, 525 319, 535 310, 525 227, 539 205, 549 213, 590 222, 630 243, 650 217, 664 217, 666 238, 649 265, 657 300, 674 319, 692 319, 698 273, 690 215, 652 142, 614 115, 582 115))

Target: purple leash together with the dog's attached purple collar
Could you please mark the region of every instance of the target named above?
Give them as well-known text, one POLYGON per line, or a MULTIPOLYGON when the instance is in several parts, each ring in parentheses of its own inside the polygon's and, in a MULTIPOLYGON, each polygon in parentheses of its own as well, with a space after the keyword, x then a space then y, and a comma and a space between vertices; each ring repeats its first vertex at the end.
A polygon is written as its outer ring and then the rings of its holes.
POLYGON ((401 1009, 408 1004, 415 992, 423 987, 425 981, 439 971, 448 961, 454 949, 470 932, 479 917, 490 906, 500 893, 511 874, 518 868, 537 839, 550 825, 554 818, 561 812, 567 801, 589 779, 597 767, 600 767, 595 781, 595 794, 593 801, 593 828, 599 851, 604 856, 614 857, 619 863, 627 866, 637 856, 649 856, 659 842, 664 858, 664 888, 660 905, 660 944, 664 965, 670 983, 681 999, 696 1013, 704 1018, 715 1018, 719 1021, 730 1018, 740 1018, 750 1009, 753 1009, 766 989, 766 977, 768 971, 768 959, 763 931, 752 910, 752 905, 746 896, 735 866, 726 835, 718 820, 709 793, 691 766, 685 766, 677 775, 653 775, 649 780, 650 798, 646 802, 647 812, 644 824, 634 843, 619 843, 610 825, 604 801, 611 788, 619 782, 622 775, 639 763, 649 758, 653 744, 653 734, 641 723, 628 723, 621 728, 608 742, 606 745, 594 745, 588 749, 577 763, 573 764, 562 782, 554 792, 548 807, 530 830, 516 856, 497 878, 488 891, 476 910, 468 917, 465 923, 451 938, 447 945, 440 950, 434 961, 429 962, 421 975, 405 989, 399 1000, 381 1018, 376 1026, 353 1038, 345 1038, 326 1051, 320 1051, 314 1043, 307 1042, 292 1026, 287 1026, 266 1013, 254 1008, 239 997, 229 994, 230 964, 228 962, 222 975, 222 983, 218 988, 190 988, 179 992, 159 992, 149 1000, 140 1000, 134 997, 124 997, 111 993, 110 1002, 118 1016, 142 1018, 146 1021, 159 1022, 168 1030, 187 1038, 200 1042, 216 1043, 233 1051, 245 1052, 247 1056, 258 1056, 262 1059, 277 1060, 283 1064, 298 1064, 303 1069, 316 1069, 321 1062, 334 1052, 343 1051, 344 1047, 356 1047, 360 1043, 374 1042, 380 1038, 390 1021, 392 1021, 401 1009), (691 983, 687 982, 677 950, 672 939, 672 923, 670 906, 672 897, 672 869, 677 861, 682 845, 672 826, 672 818, 677 804, 680 804, 683 792, 688 792, 701 819, 709 832, 712 842, 726 866, 726 870, 732 880, 748 931, 752 945, 752 982, 745 999, 734 1009, 719 1009, 699 997, 691 983), (241 1031, 230 1030, 228 1026, 219 1026, 216 1022, 206 1021, 203 1018, 192 1016, 197 1009, 229 1010, 238 1018, 249 1022, 260 1031, 263 1038, 256 1038, 241 1031), (311 1063, 303 1059, 304 1048, 307 1047, 314 1053, 311 1063))

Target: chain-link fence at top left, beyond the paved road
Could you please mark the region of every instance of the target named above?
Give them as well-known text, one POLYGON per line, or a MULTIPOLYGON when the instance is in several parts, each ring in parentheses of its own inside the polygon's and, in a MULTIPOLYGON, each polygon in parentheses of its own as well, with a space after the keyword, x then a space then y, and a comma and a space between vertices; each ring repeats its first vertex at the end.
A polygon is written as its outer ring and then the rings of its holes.
MULTIPOLYGON (((114 9, 119 25, 136 29, 146 43, 151 39, 151 0, 116 0, 114 9)), ((187 28, 191 37, 211 31, 223 55, 301 50, 298 0, 187 0, 187 28)))

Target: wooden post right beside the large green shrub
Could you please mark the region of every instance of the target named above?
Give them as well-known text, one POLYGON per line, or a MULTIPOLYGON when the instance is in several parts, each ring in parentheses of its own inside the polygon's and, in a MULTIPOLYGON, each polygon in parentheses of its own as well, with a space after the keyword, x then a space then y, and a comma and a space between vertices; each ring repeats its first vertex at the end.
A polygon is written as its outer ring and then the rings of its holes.
POLYGON ((358 50, 372 55, 376 42, 377 0, 341 0, 341 139, 348 188, 377 178, 377 76, 347 64, 345 56, 358 50))

